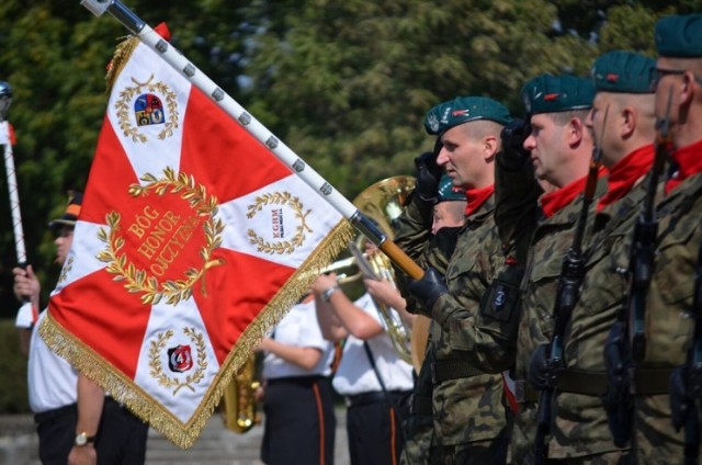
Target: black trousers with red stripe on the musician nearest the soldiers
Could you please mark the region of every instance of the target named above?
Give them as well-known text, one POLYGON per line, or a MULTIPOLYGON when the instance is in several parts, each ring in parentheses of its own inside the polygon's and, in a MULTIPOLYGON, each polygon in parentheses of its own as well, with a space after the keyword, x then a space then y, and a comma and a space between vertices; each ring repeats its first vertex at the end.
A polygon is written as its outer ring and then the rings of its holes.
POLYGON ((369 393, 348 397, 347 434, 351 465, 396 465, 405 446, 401 421, 409 393, 369 393), (393 407, 390 407, 390 402, 393 407))

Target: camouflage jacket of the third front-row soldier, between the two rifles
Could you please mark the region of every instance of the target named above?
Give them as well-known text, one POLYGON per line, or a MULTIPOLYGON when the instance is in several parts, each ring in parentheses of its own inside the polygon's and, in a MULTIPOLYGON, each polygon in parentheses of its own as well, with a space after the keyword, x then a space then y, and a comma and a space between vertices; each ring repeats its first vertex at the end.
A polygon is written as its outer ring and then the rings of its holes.
POLYGON ((624 304, 632 231, 646 188, 645 180, 639 182, 592 222, 582 286, 564 337, 567 370, 556 395, 551 457, 616 450, 600 398, 607 389, 603 348, 624 304))

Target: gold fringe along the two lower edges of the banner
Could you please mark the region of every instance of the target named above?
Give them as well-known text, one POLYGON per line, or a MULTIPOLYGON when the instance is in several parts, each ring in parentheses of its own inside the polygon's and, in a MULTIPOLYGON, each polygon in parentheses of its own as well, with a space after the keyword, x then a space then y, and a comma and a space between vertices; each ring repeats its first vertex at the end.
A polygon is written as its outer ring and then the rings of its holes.
POLYGON ((50 313, 42 322, 39 334, 58 355, 109 392, 115 400, 126 405, 129 410, 147 421, 173 444, 189 449, 200 438, 231 377, 249 359, 262 337, 278 325, 307 292, 321 270, 348 247, 355 235, 351 224, 342 219, 325 237, 235 342, 231 352, 219 366, 219 372, 205 393, 203 401, 188 423, 181 422, 131 378, 116 371, 90 347, 63 328, 50 313))

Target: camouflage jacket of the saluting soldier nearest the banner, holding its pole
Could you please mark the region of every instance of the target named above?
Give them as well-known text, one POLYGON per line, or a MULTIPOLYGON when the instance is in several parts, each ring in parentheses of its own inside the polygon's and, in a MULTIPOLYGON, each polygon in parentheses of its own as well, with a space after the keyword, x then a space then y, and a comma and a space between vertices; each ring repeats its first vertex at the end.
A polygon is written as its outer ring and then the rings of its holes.
MULTIPOLYGON (((417 204, 411 202, 400 215, 395 237, 415 259, 428 246, 430 224, 430 212, 422 212, 417 204)), ((448 379, 434 376, 432 409, 440 446, 490 440, 506 426, 501 372, 513 355, 509 334, 516 330, 514 314, 501 306, 482 307, 486 291, 505 263, 494 207, 490 196, 466 218, 445 273, 449 293, 431 309, 437 322, 431 334, 434 371, 458 363, 471 372, 448 379)))

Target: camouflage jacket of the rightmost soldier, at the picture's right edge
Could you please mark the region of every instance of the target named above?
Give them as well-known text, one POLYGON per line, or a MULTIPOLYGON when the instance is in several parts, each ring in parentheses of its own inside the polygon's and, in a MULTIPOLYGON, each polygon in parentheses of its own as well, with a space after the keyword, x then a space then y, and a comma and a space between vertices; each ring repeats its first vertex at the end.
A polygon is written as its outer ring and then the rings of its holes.
MULTIPOLYGON (((684 363, 693 341, 694 270, 702 242, 702 173, 684 180, 657 205, 658 245, 646 297, 646 356, 641 370, 684 363)), ((700 412, 698 412, 700 413, 700 412)), ((636 454, 650 463, 682 463, 683 431, 670 422, 667 395, 636 396, 636 454)))

